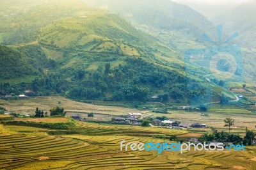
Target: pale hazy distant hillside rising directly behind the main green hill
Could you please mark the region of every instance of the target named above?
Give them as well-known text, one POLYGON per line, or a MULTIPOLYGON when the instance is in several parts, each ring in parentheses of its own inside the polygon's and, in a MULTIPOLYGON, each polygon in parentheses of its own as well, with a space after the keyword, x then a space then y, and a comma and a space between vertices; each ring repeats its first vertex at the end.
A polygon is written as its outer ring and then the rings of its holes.
POLYGON ((172 1, 85 0, 120 13, 133 26, 155 36, 175 50, 200 48, 203 33, 214 35, 214 25, 189 6, 172 1))

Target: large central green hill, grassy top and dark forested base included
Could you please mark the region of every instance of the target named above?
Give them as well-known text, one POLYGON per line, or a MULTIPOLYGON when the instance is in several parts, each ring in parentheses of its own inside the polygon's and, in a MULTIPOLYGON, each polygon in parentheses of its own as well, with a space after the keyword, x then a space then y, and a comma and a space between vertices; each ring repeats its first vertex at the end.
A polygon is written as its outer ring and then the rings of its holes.
MULTIPOLYGON (((1 81, 10 82, 1 95, 13 89, 90 100, 147 101, 158 95, 161 102, 188 104, 189 98, 216 86, 195 74, 189 79, 200 88, 189 90, 178 52, 106 10, 74 0, 25 9, 1 22, 2 44, 19 50, 23 62, 37 71, 19 66, 24 73, 16 78, 27 72, 36 77, 1 81)), ((214 100, 220 99, 221 91, 214 88, 214 100)))

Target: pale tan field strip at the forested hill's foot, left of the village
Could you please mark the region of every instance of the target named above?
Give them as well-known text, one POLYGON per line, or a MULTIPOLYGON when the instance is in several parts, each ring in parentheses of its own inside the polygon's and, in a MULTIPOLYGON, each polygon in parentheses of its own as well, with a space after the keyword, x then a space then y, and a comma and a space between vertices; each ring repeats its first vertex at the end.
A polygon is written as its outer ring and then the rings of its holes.
POLYGON ((85 104, 58 96, 28 98, 28 100, 0 100, 0 105, 8 111, 22 114, 35 114, 36 107, 49 112, 52 107, 56 106, 64 107, 65 111, 77 113, 94 112, 98 114, 122 115, 127 112, 140 112, 137 109, 120 107, 118 102, 115 103, 116 106, 111 106, 111 103, 104 105, 104 102, 101 103, 103 105, 85 104))

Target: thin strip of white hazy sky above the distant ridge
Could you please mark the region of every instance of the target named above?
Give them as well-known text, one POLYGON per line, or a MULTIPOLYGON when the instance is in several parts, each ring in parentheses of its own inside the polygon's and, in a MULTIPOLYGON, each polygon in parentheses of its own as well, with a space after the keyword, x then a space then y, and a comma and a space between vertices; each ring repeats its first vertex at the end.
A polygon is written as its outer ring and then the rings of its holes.
POLYGON ((209 5, 227 5, 227 4, 241 4, 253 0, 172 0, 177 3, 200 3, 200 4, 209 4, 209 5))

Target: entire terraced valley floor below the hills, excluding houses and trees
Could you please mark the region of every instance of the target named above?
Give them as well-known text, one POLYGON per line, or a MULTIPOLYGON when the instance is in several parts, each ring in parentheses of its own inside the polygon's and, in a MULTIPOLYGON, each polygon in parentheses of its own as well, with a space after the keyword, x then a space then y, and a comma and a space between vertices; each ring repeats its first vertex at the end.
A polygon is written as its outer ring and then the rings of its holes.
MULTIPOLYGON (((127 112, 141 112, 145 116, 166 116, 184 123, 207 123, 207 127, 225 130, 223 119, 236 119, 231 131, 243 135, 244 125, 255 131, 253 112, 232 105, 212 105, 209 116, 202 112, 169 111, 169 114, 140 111, 129 107, 93 105, 75 102, 63 97, 38 97, 28 100, 0 100, 8 111, 33 114, 39 107, 49 111, 52 107, 64 107, 67 116, 74 113, 87 115, 119 116, 127 112)), ((0 118, 8 116, 1 115, 0 118)), ((104 118, 98 117, 98 118, 104 118)), ((24 125, 0 124, 0 169, 256 169, 256 146, 246 146, 246 151, 120 151, 120 142, 164 143, 169 139, 158 139, 156 135, 200 137, 210 128, 188 128, 175 130, 159 127, 110 125, 74 121, 70 118, 15 118, 15 121, 36 123, 67 123, 70 130, 56 130, 24 125), (70 134, 68 134, 70 133, 70 134)))

